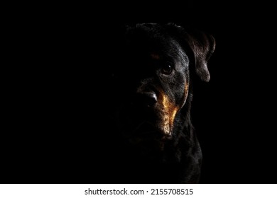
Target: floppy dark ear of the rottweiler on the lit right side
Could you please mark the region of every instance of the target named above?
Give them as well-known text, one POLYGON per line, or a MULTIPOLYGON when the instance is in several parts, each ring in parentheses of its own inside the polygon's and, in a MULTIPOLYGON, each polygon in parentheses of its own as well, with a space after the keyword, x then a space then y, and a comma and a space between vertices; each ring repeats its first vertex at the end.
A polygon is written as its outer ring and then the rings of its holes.
POLYGON ((210 72, 207 62, 215 49, 215 40, 212 35, 192 28, 183 28, 173 23, 168 23, 172 28, 178 29, 177 39, 181 39, 187 50, 190 50, 194 57, 195 73, 200 76, 202 81, 210 81, 210 72))

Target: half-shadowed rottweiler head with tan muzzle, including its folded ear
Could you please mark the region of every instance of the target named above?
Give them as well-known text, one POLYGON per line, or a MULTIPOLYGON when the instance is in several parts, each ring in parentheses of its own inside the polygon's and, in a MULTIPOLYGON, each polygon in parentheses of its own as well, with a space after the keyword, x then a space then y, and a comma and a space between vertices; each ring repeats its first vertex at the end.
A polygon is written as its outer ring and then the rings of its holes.
POLYGON ((124 59, 116 72, 116 124, 130 144, 162 151, 180 133, 191 76, 210 80, 207 60, 214 40, 174 24, 153 23, 129 27, 125 36, 124 59))

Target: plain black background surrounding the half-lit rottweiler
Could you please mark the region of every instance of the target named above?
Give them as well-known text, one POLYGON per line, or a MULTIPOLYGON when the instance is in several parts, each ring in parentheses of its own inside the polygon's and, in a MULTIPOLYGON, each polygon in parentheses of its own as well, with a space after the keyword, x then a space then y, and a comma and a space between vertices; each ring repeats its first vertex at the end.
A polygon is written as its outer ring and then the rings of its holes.
POLYGON ((16 11, 6 15, 1 183, 107 181, 112 163, 99 162, 105 158, 99 139, 110 127, 107 68, 120 65, 114 62, 120 27, 147 22, 191 25, 217 42, 211 80, 197 85, 192 105, 201 182, 277 182, 272 5, 130 1, 16 11))

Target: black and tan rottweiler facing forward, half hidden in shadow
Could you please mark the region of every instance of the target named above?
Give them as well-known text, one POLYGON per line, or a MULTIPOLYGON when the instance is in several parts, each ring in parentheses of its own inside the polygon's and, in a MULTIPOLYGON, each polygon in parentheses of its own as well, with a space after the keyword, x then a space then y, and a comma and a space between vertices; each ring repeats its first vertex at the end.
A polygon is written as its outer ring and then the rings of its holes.
POLYGON ((112 182, 199 183, 192 88, 210 81, 214 37, 175 23, 137 23, 122 44, 111 86, 112 182))

